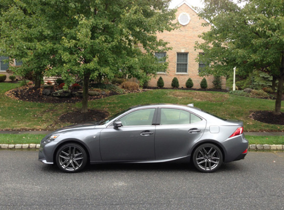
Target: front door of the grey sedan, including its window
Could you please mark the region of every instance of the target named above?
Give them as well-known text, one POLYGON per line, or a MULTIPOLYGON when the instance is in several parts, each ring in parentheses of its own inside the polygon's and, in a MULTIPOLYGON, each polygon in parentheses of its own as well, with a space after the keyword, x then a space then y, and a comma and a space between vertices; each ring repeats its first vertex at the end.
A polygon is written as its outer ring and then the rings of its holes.
POLYGON ((111 124, 100 133, 103 161, 153 160, 157 108, 134 110, 119 120, 122 126, 111 124))

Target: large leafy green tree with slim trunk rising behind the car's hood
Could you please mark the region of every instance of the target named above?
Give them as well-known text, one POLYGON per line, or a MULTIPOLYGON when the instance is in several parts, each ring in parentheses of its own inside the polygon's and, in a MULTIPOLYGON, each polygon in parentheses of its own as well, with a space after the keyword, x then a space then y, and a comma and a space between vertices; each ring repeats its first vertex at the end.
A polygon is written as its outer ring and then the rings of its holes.
POLYGON ((172 30, 175 10, 170 0, 39 0, 41 15, 57 31, 56 58, 52 68, 65 82, 72 75, 83 79, 82 112, 88 110, 89 80, 111 79, 118 72, 148 80, 164 64, 154 52, 168 50, 156 32, 172 30))

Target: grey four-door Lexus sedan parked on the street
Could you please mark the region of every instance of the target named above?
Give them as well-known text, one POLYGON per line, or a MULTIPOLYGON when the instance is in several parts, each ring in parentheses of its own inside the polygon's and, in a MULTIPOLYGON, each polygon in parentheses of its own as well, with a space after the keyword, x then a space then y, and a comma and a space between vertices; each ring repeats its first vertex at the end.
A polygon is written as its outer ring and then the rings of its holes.
POLYGON ((39 160, 64 172, 87 163, 192 161, 201 172, 243 159, 243 123, 213 116, 193 105, 139 105, 108 119, 68 126, 45 136, 39 160))

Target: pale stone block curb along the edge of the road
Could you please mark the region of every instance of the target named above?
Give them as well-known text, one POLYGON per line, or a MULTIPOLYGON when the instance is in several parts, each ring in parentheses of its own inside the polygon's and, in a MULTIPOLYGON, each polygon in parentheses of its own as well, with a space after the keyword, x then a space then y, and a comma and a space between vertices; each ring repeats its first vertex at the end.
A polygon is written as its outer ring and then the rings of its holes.
MULTIPOLYGON (((39 149, 40 144, 0 144, 0 149, 39 149)), ((284 150, 284 145, 250 144, 249 150, 284 150)))

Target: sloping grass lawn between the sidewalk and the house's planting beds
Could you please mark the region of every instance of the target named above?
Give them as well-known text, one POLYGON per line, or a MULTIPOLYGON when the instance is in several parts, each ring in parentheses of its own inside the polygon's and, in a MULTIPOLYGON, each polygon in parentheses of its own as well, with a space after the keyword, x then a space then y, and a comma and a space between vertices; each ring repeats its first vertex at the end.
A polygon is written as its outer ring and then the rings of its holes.
MULTIPOLYGON (((24 102, 5 96, 5 92, 19 86, 17 83, 0 83, 1 130, 52 131, 67 123, 59 122, 61 114, 80 109, 82 103, 48 104, 24 102)), ((273 110, 275 100, 254 99, 221 92, 187 90, 153 90, 142 93, 116 95, 89 101, 89 109, 105 109, 110 115, 133 105, 172 103, 191 104, 217 116, 244 122, 244 131, 283 131, 284 126, 265 124, 249 118, 252 111, 273 110)), ((284 107, 282 106, 282 111, 284 107)))

